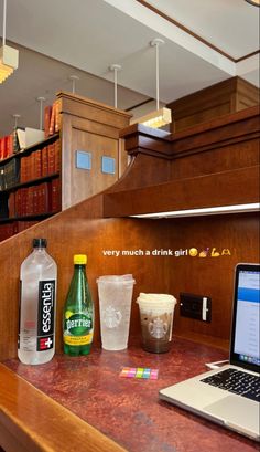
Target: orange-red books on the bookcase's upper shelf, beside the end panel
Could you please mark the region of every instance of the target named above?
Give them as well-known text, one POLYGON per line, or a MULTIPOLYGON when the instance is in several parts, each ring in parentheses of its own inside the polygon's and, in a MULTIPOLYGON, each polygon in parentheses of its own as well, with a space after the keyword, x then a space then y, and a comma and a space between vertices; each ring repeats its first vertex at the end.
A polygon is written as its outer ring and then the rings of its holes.
POLYGON ((61 170, 61 140, 34 150, 21 159, 20 182, 28 182, 59 172, 61 170))

